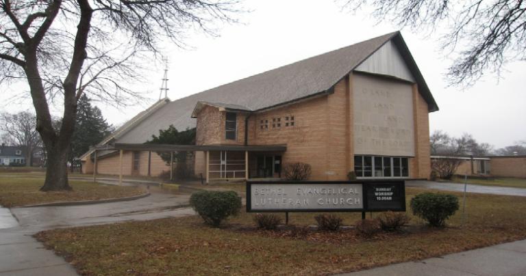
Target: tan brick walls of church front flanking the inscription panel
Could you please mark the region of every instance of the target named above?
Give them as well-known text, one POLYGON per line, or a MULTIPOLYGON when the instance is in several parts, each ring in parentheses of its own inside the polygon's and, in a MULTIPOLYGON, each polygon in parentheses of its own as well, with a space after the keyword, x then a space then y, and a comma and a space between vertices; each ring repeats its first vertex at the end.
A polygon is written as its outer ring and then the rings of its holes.
MULTIPOLYGON (((249 145, 287 146, 282 163, 303 162, 312 166, 312 180, 345 180, 353 170, 353 91, 352 74, 339 81, 331 94, 249 116, 249 145), (294 126, 290 126, 291 118, 294 126), (288 120, 286 120, 288 118, 288 120), (289 126, 286 126, 286 124, 289 126), (279 126, 278 126, 279 124, 279 126)), ((414 85, 415 156, 410 158, 410 178, 429 178, 429 119, 427 103, 414 85)), ((205 107, 197 114, 197 144, 242 145, 245 115, 238 114, 236 141, 225 140, 225 111, 205 107), (210 122, 214 120, 215 122, 210 122), (213 137, 212 137, 213 136, 213 137)), ((271 154, 271 153, 269 153, 271 154)), ((279 154, 279 153, 276 153, 279 154)), ((257 154, 251 153, 249 166, 255 171, 257 154)), ((196 163, 205 171, 205 154, 196 163)), ((198 169, 196 169, 196 172, 198 169)))

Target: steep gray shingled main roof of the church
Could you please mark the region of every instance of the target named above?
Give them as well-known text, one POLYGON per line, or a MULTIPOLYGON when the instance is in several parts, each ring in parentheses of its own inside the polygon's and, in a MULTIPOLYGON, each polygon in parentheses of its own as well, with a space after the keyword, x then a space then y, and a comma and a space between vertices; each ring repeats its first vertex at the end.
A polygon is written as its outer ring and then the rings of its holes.
POLYGON ((166 129, 171 124, 178 130, 195 127, 196 121, 191 115, 199 101, 225 102, 227 104, 223 105, 260 111, 316 94, 329 93, 340 79, 389 40, 399 46, 403 58, 416 76, 421 94, 429 104, 429 111, 438 110, 401 34, 395 32, 174 100, 141 118, 127 132, 118 135, 116 142, 144 143, 151 139, 151 135, 157 135, 160 129, 166 129))

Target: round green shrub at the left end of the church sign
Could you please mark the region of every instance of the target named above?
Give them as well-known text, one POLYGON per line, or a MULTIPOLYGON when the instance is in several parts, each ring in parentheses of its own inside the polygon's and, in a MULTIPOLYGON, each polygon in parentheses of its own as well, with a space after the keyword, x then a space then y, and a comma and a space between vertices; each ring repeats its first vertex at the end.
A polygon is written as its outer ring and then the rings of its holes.
POLYGON ((199 191, 190 196, 190 206, 205 223, 215 227, 241 208, 241 197, 234 191, 199 191))

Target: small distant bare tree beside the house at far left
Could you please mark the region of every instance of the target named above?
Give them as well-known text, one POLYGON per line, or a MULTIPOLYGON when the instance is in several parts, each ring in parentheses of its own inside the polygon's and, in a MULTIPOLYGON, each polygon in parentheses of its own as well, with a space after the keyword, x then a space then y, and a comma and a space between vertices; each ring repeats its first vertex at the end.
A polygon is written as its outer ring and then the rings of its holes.
POLYGON ((16 114, 2 113, 0 115, 0 130, 7 133, 25 151, 25 165, 33 165, 33 153, 42 147, 42 139, 36 131, 36 117, 23 111, 16 114))

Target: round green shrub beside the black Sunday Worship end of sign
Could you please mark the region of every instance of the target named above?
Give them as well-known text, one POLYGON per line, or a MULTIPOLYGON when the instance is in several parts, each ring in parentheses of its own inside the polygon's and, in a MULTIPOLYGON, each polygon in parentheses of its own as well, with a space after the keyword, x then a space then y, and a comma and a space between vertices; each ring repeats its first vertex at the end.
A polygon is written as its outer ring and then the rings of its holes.
POLYGON ((411 199, 413 215, 429 225, 442 227, 446 219, 458 210, 458 197, 444 193, 421 193, 411 199))

